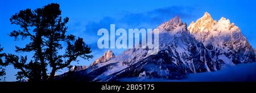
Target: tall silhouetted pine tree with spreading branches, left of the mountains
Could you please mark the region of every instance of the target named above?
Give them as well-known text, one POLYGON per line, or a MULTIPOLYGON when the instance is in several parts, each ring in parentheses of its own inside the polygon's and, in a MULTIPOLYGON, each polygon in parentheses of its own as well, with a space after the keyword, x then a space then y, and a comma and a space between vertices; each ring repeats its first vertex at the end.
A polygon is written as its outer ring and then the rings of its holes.
POLYGON ((69 67, 72 61, 77 61, 77 57, 93 57, 89 55, 90 47, 82 38, 66 34, 68 17, 63 19, 60 15, 60 5, 51 3, 34 11, 27 8, 11 16, 11 24, 18 25, 20 29, 11 32, 10 37, 30 40, 25 47, 16 46, 16 52, 34 53, 34 59, 29 62, 26 55, 6 55, 5 63, 20 69, 16 74, 19 81, 24 78, 28 81, 51 80, 57 70, 69 67), (67 48, 61 55, 59 51, 63 50, 63 42, 67 43, 67 48), (48 74, 47 67, 51 68, 48 74))

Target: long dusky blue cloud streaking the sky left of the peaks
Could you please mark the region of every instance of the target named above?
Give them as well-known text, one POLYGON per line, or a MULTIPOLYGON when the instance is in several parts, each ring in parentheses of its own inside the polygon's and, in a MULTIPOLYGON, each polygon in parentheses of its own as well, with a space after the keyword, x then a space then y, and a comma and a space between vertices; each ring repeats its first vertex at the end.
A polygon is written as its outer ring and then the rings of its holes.
MULTIPOLYGON (((97 44, 99 36, 98 29, 110 29, 110 24, 115 24, 115 28, 155 28, 159 24, 171 19, 174 16, 180 16, 182 19, 191 19, 193 7, 172 6, 158 8, 152 11, 142 13, 122 12, 118 18, 106 16, 100 21, 90 21, 86 25, 82 25, 84 29, 77 35, 87 39, 88 43, 97 44)), ((76 24, 78 25, 78 24, 76 24)), ((110 30, 109 30, 110 31, 110 30)), ((92 47, 97 48, 97 47, 92 47)))

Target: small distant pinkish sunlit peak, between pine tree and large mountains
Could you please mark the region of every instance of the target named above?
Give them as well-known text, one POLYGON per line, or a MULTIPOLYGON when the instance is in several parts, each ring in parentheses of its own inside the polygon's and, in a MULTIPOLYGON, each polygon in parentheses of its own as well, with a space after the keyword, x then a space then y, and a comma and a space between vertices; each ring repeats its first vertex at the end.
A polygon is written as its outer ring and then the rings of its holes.
POLYGON ((105 63, 106 61, 108 61, 114 57, 115 57, 114 53, 111 50, 108 50, 108 51, 104 52, 104 54, 100 58, 96 59, 92 64, 90 64, 90 66, 98 64, 98 63, 105 63))

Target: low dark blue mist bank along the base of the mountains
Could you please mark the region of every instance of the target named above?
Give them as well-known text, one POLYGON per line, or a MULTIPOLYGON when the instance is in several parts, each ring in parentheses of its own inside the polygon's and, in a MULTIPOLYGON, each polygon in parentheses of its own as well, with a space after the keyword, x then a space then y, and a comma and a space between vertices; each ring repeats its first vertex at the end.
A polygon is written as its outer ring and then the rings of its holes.
POLYGON ((245 82, 256 81, 256 63, 239 64, 218 70, 216 72, 204 72, 189 74, 181 80, 163 78, 122 78, 121 81, 143 82, 245 82))

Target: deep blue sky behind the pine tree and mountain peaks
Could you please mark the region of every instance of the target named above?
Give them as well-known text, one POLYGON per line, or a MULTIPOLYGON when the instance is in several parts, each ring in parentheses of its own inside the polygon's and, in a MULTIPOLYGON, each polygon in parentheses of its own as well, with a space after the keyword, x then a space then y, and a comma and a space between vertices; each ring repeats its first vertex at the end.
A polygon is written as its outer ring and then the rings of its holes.
MULTIPOLYGON (((14 29, 15 25, 10 24, 11 15, 31 8, 43 7, 48 3, 59 3, 63 17, 69 17, 68 33, 84 38, 85 42, 92 47, 93 59, 82 60, 72 65, 89 65, 97 57, 101 56, 106 50, 97 48, 97 30, 109 28, 110 24, 115 24, 116 28, 155 28, 160 23, 178 15, 184 23, 190 24, 191 21, 203 16, 204 12, 209 12, 214 20, 219 20, 222 16, 229 19, 240 27, 242 34, 248 39, 250 44, 256 47, 256 1, 216 1, 216 0, 193 0, 193 1, 157 1, 157 0, 129 0, 129 1, 1 1, 0 3, 0 45, 4 47, 4 52, 15 53, 14 46, 24 46, 28 41, 14 41, 8 34, 14 29)), ((121 54, 123 50, 113 50, 114 54, 121 54)), ((17 54, 17 53, 15 53, 17 54)), ((28 55, 19 53, 18 55, 28 55)), ((15 74, 12 66, 7 68, 6 81, 15 81, 15 74)), ((66 71, 67 69, 61 70, 66 71)))

